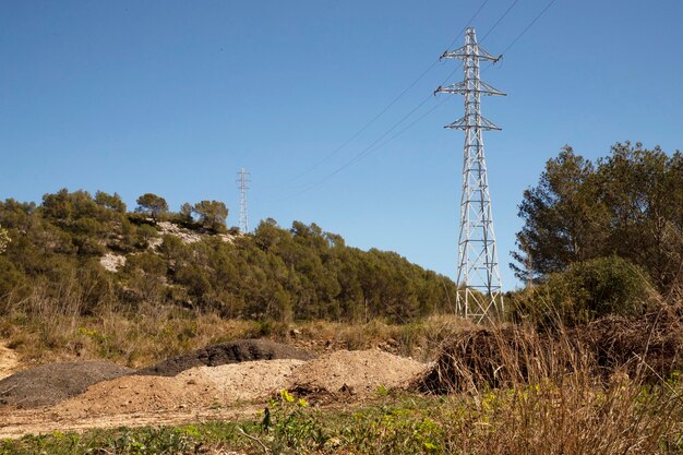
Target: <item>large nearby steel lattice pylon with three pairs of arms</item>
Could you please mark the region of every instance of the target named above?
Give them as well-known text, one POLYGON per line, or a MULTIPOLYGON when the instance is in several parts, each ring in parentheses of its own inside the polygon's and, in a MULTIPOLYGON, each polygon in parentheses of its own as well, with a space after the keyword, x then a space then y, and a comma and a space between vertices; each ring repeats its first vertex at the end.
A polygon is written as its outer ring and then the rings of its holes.
POLYGON ((475 321, 493 321, 503 312, 503 288, 499 271, 491 195, 483 154, 483 131, 501 130, 481 116, 481 95, 505 94, 479 79, 479 61, 496 62, 477 44, 475 28, 468 27, 465 46, 445 51, 442 58, 463 60, 465 80, 434 93, 465 96, 465 117, 444 127, 465 131, 463 160, 463 195, 458 238, 457 311, 475 321))

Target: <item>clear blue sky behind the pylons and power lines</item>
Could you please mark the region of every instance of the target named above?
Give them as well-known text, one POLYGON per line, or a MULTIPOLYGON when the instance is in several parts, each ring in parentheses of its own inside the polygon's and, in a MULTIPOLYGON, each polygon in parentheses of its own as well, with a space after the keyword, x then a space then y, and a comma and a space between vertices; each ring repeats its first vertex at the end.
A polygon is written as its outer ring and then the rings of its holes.
MULTIPOLYGON (((325 177, 455 61, 432 68, 346 147, 292 179, 354 136, 464 26, 483 37, 514 0, 489 0, 467 24, 482 3, 2 0, 0 199, 39 201, 64 187, 116 191, 131 208, 145 192, 175 209, 217 199, 237 225, 244 166, 252 226, 315 221, 348 244, 397 251, 454 277, 463 133, 442 125, 462 116, 462 97, 325 177)), ((502 52, 547 4, 517 0, 482 47, 502 52)), ((508 93, 483 99, 483 115, 503 127, 484 141, 505 288, 517 286, 507 267, 517 204, 560 147, 591 158, 625 140, 681 148, 682 17, 679 0, 556 0, 483 72, 508 93)))

